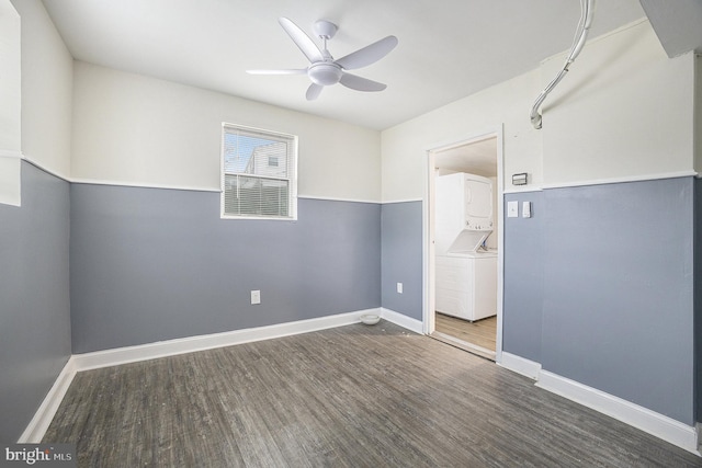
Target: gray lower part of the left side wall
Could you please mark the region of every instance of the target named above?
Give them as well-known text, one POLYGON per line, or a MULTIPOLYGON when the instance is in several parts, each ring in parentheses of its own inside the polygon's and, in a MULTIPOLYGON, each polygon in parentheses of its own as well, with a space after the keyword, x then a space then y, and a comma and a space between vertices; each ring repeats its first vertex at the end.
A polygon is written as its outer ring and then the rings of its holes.
POLYGON ((0 441, 18 441, 71 354, 69 184, 22 163, 0 204, 0 441))

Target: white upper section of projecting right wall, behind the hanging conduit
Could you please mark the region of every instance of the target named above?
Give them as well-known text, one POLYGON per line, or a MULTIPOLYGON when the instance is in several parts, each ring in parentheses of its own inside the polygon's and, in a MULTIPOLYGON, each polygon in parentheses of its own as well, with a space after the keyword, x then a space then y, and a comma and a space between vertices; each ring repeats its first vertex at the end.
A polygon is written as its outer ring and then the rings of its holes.
MULTIPOLYGON (((544 82, 565 59, 542 65, 544 82)), ((589 42, 543 106, 544 184, 692 172, 693 67, 648 21, 589 42)))

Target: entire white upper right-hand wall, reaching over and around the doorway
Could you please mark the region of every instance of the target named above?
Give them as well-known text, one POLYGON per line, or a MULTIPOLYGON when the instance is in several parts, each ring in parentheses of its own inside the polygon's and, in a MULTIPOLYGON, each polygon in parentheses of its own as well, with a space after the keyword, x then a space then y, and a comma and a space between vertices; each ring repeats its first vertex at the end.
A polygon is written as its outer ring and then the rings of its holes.
POLYGON ((529 173, 525 189, 692 173, 691 54, 669 59, 647 21, 592 39, 535 130, 531 106, 565 56, 383 132, 383 202, 422 197, 428 148, 500 125, 505 190, 518 172, 529 173))

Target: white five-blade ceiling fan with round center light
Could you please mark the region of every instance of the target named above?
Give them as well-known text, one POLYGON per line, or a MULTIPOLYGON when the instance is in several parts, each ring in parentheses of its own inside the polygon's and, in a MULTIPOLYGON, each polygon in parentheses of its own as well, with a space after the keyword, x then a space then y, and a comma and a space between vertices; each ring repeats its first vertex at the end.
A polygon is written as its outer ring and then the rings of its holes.
POLYGON ((320 20, 314 24, 314 31, 322 41, 324 48, 319 48, 317 44, 301 30, 295 23, 287 18, 279 19, 279 23, 283 30, 293 39, 293 42, 305 54, 309 60, 307 68, 287 69, 287 70, 247 70, 250 75, 303 75, 306 73, 312 80, 312 84, 307 89, 305 96, 307 101, 313 101, 319 96, 324 87, 341 83, 347 88, 356 91, 383 91, 386 84, 377 81, 369 80, 356 75, 351 75, 347 70, 355 70, 358 68, 367 67, 376 62, 381 58, 389 54, 397 45, 397 37, 387 36, 370 46, 363 47, 351 53, 338 60, 327 50, 327 41, 332 38, 337 33, 337 25, 329 21, 320 20))

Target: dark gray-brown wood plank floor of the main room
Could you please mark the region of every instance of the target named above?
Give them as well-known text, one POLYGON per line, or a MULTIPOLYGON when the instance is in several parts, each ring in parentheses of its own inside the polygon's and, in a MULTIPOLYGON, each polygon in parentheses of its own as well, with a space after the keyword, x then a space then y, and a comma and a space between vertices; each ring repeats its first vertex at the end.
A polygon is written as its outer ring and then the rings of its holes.
POLYGON ((693 467, 702 458, 381 321, 76 375, 80 467, 693 467))

